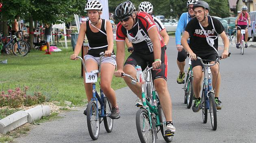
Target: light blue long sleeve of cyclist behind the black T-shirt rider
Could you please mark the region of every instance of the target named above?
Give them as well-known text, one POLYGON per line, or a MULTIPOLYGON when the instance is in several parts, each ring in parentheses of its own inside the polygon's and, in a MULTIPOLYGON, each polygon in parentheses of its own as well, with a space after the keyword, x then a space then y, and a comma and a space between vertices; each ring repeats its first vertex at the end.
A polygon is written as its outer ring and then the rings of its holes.
POLYGON ((184 30, 185 27, 185 22, 187 24, 187 13, 182 13, 182 15, 180 16, 180 19, 178 21, 178 25, 176 28, 176 32, 175 32, 175 40, 176 40, 176 45, 177 44, 181 44, 180 40, 181 40, 181 33, 184 30))

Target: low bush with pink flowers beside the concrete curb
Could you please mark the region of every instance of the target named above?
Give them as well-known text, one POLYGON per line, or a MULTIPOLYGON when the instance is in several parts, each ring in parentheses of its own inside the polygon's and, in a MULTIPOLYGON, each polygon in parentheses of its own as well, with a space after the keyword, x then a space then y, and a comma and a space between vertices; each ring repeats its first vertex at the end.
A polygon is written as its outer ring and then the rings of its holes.
POLYGON ((28 86, 25 86, 24 90, 20 90, 17 87, 15 90, 7 90, 7 93, 2 91, 0 93, 0 107, 9 106, 11 108, 17 108, 22 105, 32 106, 46 101, 46 96, 40 92, 35 92, 33 96, 26 95, 27 90, 28 86))

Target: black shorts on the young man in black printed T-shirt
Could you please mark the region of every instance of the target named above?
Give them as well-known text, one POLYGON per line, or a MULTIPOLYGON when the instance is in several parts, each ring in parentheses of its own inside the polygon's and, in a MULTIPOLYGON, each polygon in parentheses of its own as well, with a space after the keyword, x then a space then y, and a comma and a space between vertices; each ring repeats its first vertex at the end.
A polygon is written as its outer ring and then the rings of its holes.
MULTIPOLYGON (((196 55, 196 56, 200 57, 203 60, 208 60, 208 61, 204 61, 204 63, 208 63, 210 61, 216 61, 218 54, 216 52, 216 53, 205 53, 205 54, 200 54, 200 55, 196 55)), ((191 60, 191 65, 192 65, 192 69, 193 69, 193 67, 195 67, 197 65, 201 65, 203 67, 203 65, 199 59, 191 60)))

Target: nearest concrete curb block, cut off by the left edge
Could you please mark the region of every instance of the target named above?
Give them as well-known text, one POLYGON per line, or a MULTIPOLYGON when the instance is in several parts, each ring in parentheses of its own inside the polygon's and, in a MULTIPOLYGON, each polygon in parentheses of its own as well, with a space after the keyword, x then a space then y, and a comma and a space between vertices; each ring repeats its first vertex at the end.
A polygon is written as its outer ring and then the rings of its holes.
POLYGON ((28 122, 28 113, 20 110, 17 111, 2 120, 0 120, 0 133, 6 134, 8 131, 22 126, 28 122))

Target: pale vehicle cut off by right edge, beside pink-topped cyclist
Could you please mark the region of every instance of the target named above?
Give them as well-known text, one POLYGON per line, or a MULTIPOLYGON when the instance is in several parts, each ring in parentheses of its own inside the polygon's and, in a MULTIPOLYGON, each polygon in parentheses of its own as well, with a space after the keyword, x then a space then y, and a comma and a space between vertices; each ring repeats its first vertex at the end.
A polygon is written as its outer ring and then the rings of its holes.
POLYGON ((251 27, 248 28, 248 39, 252 38, 253 42, 256 42, 256 11, 249 13, 251 19, 251 27))

